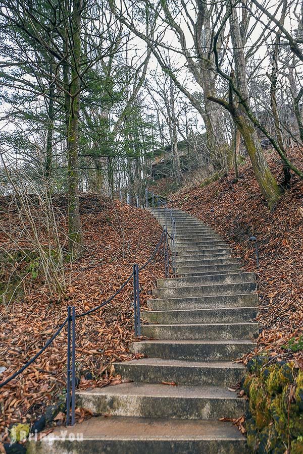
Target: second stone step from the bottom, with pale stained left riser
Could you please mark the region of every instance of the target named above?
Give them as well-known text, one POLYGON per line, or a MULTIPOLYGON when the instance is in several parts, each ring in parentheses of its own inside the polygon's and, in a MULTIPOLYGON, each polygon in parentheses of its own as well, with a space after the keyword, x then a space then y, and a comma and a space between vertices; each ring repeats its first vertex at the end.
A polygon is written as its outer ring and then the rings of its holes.
POLYGON ((172 419, 237 418, 246 410, 226 388, 136 382, 77 391, 76 405, 93 415, 172 419))

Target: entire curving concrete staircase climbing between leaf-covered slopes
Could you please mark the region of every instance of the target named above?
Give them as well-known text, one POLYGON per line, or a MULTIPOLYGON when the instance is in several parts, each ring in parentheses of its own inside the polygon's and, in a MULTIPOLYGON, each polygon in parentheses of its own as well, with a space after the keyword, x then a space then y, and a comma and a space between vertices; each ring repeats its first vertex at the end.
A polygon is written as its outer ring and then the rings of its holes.
MULTIPOLYGON (((155 215, 164 222, 162 208, 155 215)), ((246 452, 244 436, 218 419, 246 408, 228 388, 245 374, 232 359, 250 351, 258 333, 255 275, 207 225, 180 210, 174 217, 179 277, 158 279, 151 311, 141 313, 150 339, 130 347, 146 357, 115 364, 128 382, 77 393, 78 406, 101 416, 69 428, 65 440, 57 430, 53 445, 32 442, 30 452, 246 452)))

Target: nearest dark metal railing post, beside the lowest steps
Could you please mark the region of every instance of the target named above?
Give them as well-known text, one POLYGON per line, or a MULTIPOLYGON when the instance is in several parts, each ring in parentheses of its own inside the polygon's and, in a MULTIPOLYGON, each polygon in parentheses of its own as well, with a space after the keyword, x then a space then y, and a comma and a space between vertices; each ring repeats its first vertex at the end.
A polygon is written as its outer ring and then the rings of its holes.
POLYGON ((67 308, 67 383, 66 383, 66 425, 75 424, 76 399, 76 311, 75 306, 67 308), (72 377, 72 380, 71 380, 72 377), (72 381, 72 394, 71 394, 72 381))

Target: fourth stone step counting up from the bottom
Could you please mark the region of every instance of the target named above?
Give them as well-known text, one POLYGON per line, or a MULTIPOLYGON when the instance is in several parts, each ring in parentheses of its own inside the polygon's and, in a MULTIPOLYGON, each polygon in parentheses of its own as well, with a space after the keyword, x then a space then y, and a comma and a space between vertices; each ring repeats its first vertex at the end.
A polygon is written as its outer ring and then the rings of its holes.
POLYGON ((256 344, 249 340, 237 341, 140 341, 130 345, 132 353, 145 356, 185 361, 235 360, 251 352, 256 344))

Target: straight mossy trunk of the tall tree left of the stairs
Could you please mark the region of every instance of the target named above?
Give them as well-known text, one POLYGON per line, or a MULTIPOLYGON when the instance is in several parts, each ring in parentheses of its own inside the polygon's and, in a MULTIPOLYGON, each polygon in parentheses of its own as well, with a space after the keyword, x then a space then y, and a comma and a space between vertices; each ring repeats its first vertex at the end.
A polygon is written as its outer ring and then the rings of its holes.
POLYGON ((69 84, 69 113, 67 134, 68 164, 68 231, 71 258, 84 252, 83 234, 79 212, 79 111, 80 111, 80 54, 81 54, 81 3, 73 0, 72 13, 72 58, 69 84))

